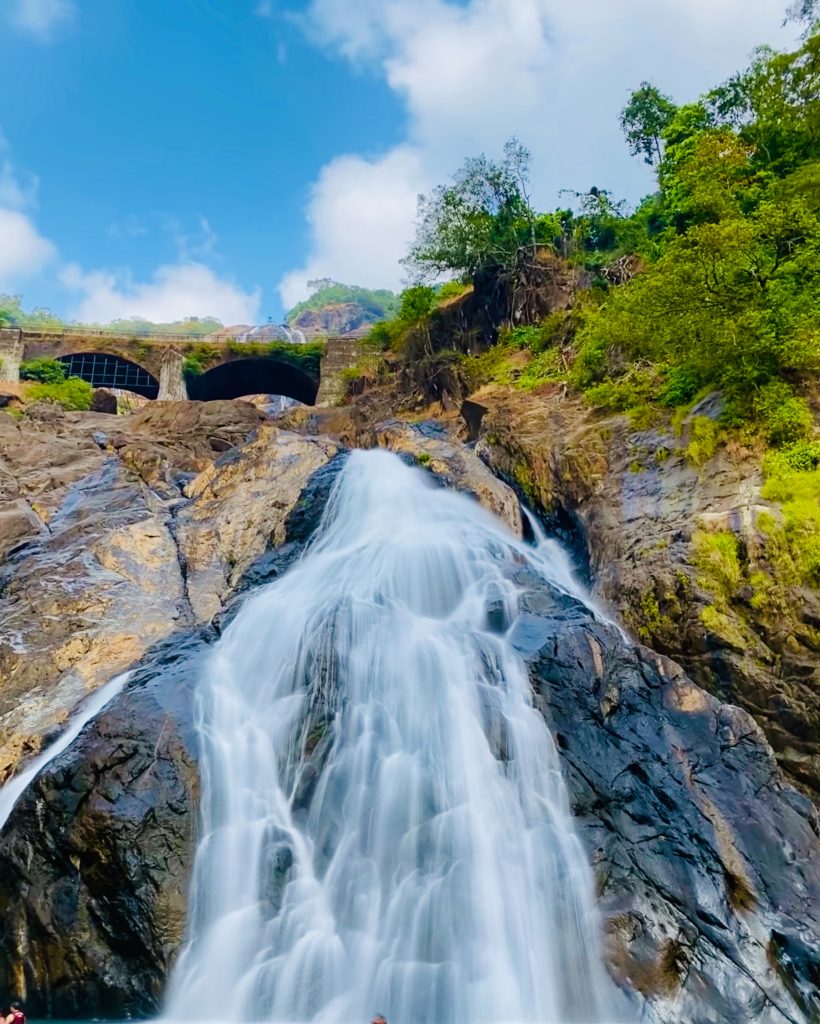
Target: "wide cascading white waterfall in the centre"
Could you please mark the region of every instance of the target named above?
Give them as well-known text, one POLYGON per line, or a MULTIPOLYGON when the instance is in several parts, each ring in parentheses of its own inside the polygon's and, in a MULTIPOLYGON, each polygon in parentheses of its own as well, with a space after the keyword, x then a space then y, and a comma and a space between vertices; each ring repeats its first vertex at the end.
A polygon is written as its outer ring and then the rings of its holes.
POLYGON ((349 457, 316 539, 201 680, 170 1018, 613 1019, 591 871, 507 639, 524 560, 549 571, 422 470, 349 457))

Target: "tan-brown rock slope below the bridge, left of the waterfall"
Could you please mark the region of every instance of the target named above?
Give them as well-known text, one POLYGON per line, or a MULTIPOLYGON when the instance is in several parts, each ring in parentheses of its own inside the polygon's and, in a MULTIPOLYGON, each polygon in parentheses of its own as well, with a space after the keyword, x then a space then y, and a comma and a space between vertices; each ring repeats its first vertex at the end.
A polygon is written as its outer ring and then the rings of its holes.
POLYGON ((241 401, 43 415, 0 414, 0 783, 88 692, 221 612, 338 452, 241 401))

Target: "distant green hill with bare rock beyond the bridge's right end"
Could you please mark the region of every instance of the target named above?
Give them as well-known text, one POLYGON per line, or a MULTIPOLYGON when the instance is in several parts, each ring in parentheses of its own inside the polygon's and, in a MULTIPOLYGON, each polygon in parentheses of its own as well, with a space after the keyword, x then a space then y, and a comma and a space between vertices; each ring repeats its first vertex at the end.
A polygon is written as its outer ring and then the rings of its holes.
POLYGON ((289 327, 305 335, 350 334, 389 319, 398 311, 398 296, 387 289, 372 291, 357 285, 342 285, 329 278, 311 281, 313 294, 286 313, 289 327))

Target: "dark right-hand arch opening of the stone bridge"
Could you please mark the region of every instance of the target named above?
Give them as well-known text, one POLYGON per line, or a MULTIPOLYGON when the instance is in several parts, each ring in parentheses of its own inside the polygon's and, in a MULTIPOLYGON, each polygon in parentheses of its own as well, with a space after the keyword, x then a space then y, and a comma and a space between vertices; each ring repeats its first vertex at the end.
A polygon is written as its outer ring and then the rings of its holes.
POLYGON ((284 394, 313 406, 318 380, 290 362, 260 356, 231 359, 197 377, 186 378, 188 398, 212 401, 247 394, 284 394))

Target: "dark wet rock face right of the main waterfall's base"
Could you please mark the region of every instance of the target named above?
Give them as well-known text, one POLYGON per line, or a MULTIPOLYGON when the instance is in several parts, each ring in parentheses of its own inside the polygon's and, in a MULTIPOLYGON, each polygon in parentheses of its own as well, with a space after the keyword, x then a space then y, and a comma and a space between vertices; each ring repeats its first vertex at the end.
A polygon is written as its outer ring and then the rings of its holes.
POLYGON ((642 1019, 664 1024, 817 1020, 811 802, 783 784, 745 712, 561 605, 532 585, 517 632, 594 865, 613 976, 642 1019))

